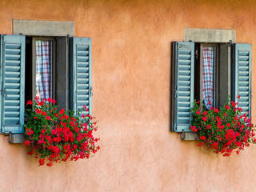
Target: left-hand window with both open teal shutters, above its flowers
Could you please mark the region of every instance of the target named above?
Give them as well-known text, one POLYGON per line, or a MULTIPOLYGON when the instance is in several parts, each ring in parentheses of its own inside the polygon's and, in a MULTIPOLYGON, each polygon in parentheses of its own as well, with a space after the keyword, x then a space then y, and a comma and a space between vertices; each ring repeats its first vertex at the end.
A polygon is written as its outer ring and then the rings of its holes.
POLYGON ((0 73, 1 133, 23 133, 25 102, 35 95, 91 114, 90 38, 1 35, 0 73))

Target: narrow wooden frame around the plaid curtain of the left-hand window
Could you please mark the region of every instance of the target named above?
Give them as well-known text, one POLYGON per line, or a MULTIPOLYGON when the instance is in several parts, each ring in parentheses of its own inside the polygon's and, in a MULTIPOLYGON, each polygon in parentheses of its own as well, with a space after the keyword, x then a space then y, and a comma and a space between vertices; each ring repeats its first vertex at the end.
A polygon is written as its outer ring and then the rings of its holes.
POLYGON ((56 39, 53 37, 32 37, 32 98, 36 94, 36 41, 52 42, 52 82, 50 83, 52 95, 50 98, 56 98, 56 39))

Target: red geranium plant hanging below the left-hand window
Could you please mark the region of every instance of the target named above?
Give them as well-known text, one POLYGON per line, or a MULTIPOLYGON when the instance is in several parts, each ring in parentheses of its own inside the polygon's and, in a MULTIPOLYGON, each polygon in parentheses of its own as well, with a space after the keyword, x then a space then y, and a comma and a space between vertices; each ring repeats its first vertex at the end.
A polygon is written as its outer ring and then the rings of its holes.
POLYGON ((27 102, 24 144, 30 146, 28 154, 39 158, 39 166, 52 166, 54 162, 66 162, 89 158, 100 146, 94 138, 97 130, 94 117, 83 114, 86 106, 76 111, 58 110, 55 100, 47 98, 27 102))

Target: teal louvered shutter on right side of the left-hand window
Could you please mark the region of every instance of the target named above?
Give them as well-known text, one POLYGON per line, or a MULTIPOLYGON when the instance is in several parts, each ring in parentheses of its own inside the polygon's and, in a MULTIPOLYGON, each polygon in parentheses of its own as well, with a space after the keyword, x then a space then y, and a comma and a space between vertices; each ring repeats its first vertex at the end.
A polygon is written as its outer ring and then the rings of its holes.
POLYGON ((92 114, 91 38, 70 38, 70 52, 70 108, 92 114))

